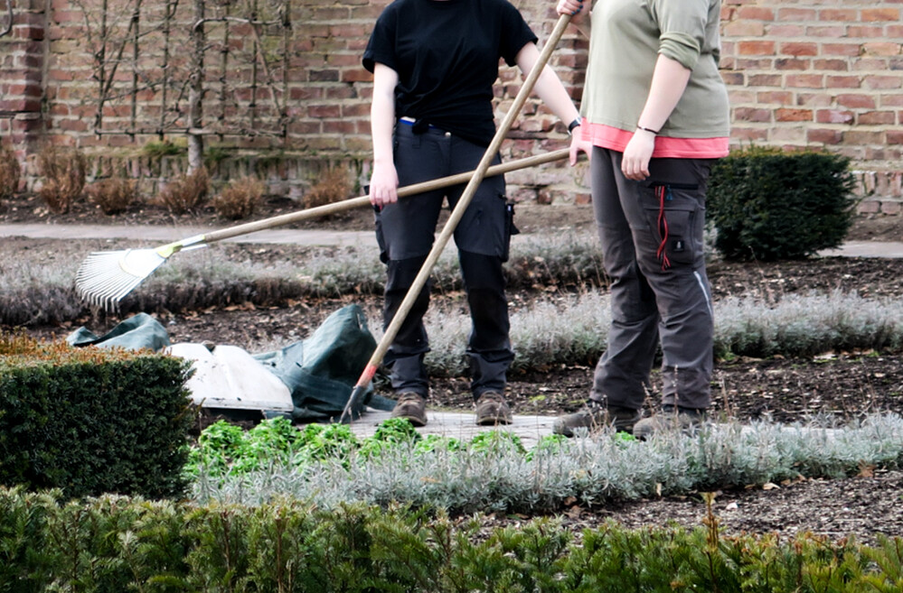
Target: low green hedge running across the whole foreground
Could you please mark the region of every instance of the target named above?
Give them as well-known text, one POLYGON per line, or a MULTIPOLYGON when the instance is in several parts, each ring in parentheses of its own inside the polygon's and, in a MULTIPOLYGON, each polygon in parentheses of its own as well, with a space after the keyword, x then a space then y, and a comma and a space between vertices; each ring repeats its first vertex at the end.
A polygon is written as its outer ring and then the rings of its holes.
POLYGON ((898 591, 903 541, 725 537, 703 526, 582 533, 535 519, 286 501, 204 506, 0 489, 0 591, 898 591))

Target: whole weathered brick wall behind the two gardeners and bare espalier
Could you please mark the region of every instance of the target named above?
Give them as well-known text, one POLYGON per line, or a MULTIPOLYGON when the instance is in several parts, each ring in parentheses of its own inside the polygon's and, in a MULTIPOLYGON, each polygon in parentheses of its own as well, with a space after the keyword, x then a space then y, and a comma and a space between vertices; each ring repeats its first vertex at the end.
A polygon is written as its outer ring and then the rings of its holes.
MULTIPOLYGON (((144 2, 136 13, 136 0, 14 0, 13 34, 0 38, 2 141, 27 161, 45 140, 97 153, 113 147, 125 158, 148 141, 183 138, 190 127, 185 84, 196 3, 144 2), (100 10, 105 4, 106 18, 100 10), (108 97, 101 101, 104 88, 108 97)), ((208 0, 204 16, 212 20, 202 25, 209 47, 206 144, 244 161, 260 156, 268 163, 291 162, 267 170, 274 188, 295 196, 316 175, 299 173, 298 163, 310 166, 318 158, 349 162, 349 174, 365 180, 371 77, 360 57, 386 3, 208 0), (288 6, 285 14, 279 5, 288 6), (240 22, 255 7, 256 20, 266 23, 256 30, 240 22)), ((550 0, 514 4, 541 40, 548 38, 557 20, 550 0)), ((730 90, 733 144, 846 154, 855 162, 861 195, 869 198, 862 208, 897 211, 901 11, 903 0, 724 0, 722 73, 730 90)), ((576 98, 587 47, 569 32, 552 60, 576 98)), ((503 68, 500 78, 501 117, 520 77, 503 68)), ((566 143, 556 118, 530 102, 503 153, 521 157, 566 143)), ((511 173, 510 190, 520 200, 585 201, 584 169, 559 164, 511 173)), ((28 172, 33 181, 33 168, 28 172)))

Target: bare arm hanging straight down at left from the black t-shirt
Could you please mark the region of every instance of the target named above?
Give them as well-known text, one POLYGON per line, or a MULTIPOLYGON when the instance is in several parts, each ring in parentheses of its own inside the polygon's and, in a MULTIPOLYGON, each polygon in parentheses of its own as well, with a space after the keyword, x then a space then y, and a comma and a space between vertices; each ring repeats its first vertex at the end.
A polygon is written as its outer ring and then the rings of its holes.
POLYGON ((399 176, 392 154, 395 128, 395 86, 399 75, 385 64, 373 69, 373 99, 370 127, 373 138, 373 173, 370 177, 370 202, 382 207, 398 201, 399 176))

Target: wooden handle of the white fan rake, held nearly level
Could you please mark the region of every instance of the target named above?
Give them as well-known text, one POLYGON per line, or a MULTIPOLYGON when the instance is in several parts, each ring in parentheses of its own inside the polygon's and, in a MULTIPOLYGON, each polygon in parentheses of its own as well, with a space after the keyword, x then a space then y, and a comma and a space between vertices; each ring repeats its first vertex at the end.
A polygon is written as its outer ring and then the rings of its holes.
MULTIPOLYGON (((485 174, 486 177, 492 177, 493 175, 501 175, 510 171, 518 171, 520 169, 526 169, 527 167, 545 164, 546 162, 560 161, 561 159, 567 158, 568 154, 569 150, 567 148, 562 148, 561 150, 551 153, 537 154, 536 156, 529 156, 524 159, 518 159, 517 161, 503 162, 502 164, 497 164, 489 167, 485 174)), ((456 175, 442 177, 440 179, 423 181, 421 183, 414 183, 413 185, 406 185, 403 188, 399 188, 398 195, 399 198, 404 198, 407 196, 423 193, 425 191, 440 190, 451 185, 456 185, 457 183, 465 183, 466 181, 470 181, 474 173, 475 171, 467 171, 464 173, 457 173, 456 175)), ((243 225, 237 225, 235 227, 221 228, 220 230, 211 231, 210 233, 205 233, 203 235, 203 242, 213 243, 215 241, 222 241, 223 239, 228 239, 233 236, 248 235, 249 233, 255 233, 259 230, 282 227, 293 222, 300 222, 302 220, 326 216, 328 214, 336 214, 338 212, 344 212, 345 210, 350 210, 353 208, 361 208, 362 206, 367 206, 369 204, 370 198, 367 196, 361 196, 359 198, 352 199, 343 199, 342 201, 335 202, 333 204, 325 204, 323 206, 316 206, 315 208, 306 208, 304 210, 298 210, 297 212, 281 214, 277 217, 264 218, 263 220, 255 220, 254 222, 248 222, 243 225)))

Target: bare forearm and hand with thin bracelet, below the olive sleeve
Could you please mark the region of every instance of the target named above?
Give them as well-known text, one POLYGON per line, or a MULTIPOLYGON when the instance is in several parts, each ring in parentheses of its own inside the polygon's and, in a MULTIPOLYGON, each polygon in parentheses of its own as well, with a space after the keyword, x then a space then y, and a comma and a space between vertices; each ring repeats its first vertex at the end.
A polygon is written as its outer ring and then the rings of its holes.
POLYGON ((621 171, 627 179, 643 181, 649 177, 649 160, 655 148, 655 134, 647 130, 661 130, 674 107, 687 88, 691 70, 680 62, 659 54, 655 62, 649 96, 640 119, 636 122, 634 137, 624 149, 621 171), (640 128, 646 128, 645 130, 640 128))

